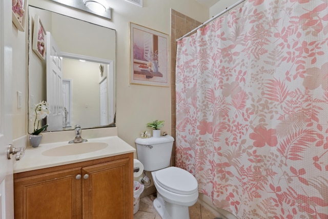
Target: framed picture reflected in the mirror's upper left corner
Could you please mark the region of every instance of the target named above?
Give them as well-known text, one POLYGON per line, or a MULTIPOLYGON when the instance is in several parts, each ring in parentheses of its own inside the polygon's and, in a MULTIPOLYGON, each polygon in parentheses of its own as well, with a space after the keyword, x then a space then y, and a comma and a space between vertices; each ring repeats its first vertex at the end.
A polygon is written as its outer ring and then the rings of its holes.
POLYGON ((46 30, 42 25, 39 15, 34 16, 34 28, 33 28, 33 51, 41 59, 46 57, 46 30))

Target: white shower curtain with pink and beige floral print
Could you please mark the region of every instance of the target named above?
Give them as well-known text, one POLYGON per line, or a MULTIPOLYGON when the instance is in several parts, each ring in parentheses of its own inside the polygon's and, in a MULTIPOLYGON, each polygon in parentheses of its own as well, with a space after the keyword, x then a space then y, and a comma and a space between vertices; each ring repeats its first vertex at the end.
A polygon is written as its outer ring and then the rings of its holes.
POLYGON ((328 218, 328 3, 248 0, 178 42, 176 166, 238 218, 328 218))

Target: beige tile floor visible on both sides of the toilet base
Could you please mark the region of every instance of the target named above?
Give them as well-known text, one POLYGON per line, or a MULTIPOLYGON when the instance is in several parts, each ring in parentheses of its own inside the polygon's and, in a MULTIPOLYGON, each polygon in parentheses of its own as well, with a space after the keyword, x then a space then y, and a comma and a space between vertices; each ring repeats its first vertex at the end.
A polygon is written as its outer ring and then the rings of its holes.
MULTIPOLYGON (((143 197, 140 199, 139 211, 134 214, 133 219, 161 219, 153 207, 153 201, 156 198, 155 194, 143 197)), ((189 207, 190 219, 214 219, 214 214, 204 208, 199 203, 189 207)))

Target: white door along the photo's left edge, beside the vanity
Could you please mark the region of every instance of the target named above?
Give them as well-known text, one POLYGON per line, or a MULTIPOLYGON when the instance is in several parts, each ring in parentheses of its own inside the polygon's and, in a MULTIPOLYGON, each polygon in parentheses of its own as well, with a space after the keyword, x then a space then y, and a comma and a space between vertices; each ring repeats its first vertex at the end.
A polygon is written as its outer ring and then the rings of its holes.
POLYGON ((6 153, 12 144, 12 2, 0 1, 0 21, 0 219, 13 219, 13 158, 6 153))

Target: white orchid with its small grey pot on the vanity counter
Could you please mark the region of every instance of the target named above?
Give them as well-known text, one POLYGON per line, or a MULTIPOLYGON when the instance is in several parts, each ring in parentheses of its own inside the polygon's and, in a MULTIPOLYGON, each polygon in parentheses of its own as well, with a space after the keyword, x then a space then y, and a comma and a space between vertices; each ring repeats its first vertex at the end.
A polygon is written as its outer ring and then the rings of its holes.
POLYGON ((33 124, 33 132, 30 134, 30 143, 32 147, 36 148, 39 146, 41 140, 42 140, 42 134, 49 124, 42 126, 39 128, 40 121, 43 120, 47 115, 50 114, 49 105, 46 101, 40 101, 37 105, 35 105, 35 109, 33 112, 32 117, 34 118, 34 124, 33 124))

